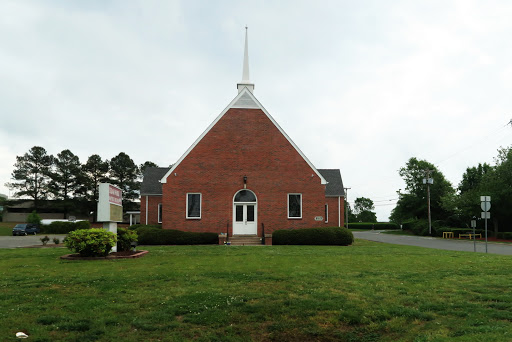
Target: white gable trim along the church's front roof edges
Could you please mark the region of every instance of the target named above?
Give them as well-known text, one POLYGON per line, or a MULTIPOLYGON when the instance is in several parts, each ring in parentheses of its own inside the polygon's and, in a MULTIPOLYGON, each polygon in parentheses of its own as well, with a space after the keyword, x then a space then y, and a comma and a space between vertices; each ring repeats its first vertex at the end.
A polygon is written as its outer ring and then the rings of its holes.
POLYGON ((231 103, 220 113, 219 116, 208 126, 208 128, 197 138, 197 140, 188 148, 188 150, 181 156, 180 159, 167 171, 167 173, 162 177, 160 183, 167 183, 167 177, 169 177, 176 167, 180 165, 180 163, 185 159, 188 154, 197 146, 197 144, 203 139, 203 137, 212 129, 213 126, 217 124, 217 122, 227 113, 227 111, 231 108, 250 108, 250 109, 261 109, 263 113, 272 121, 272 123, 277 127, 279 132, 288 140, 288 142, 295 148, 295 150, 300 154, 302 159, 311 167, 311 169, 316 173, 318 177, 320 177, 321 184, 327 184, 327 181, 324 177, 318 172, 316 167, 309 161, 309 159, 302 153, 297 145, 293 142, 292 139, 286 134, 286 132, 279 126, 279 124, 274 120, 274 118, 267 112, 265 108, 261 105, 261 103, 254 97, 254 95, 249 91, 247 87, 244 87, 242 91, 231 101, 231 103), (242 98, 243 97, 243 98, 242 98), (241 99, 242 98, 242 99, 241 99))

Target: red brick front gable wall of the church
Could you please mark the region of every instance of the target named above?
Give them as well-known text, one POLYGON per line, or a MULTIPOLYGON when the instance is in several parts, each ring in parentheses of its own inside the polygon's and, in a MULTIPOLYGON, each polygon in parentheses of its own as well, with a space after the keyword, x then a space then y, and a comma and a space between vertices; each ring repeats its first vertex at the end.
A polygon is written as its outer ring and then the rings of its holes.
MULTIPOLYGON (((258 235, 277 229, 325 226, 325 185, 259 109, 229 109, 162 184, 163 227, 225 232, 233 196, 247 189, 258 200, 258 235), (186 194, 201 193, 201 219, 186 219, 186 194), (287 194, 302 193, 302 219, 288 219, 287 194)), ((142 210, 141 210, 142 211, 142 210)))

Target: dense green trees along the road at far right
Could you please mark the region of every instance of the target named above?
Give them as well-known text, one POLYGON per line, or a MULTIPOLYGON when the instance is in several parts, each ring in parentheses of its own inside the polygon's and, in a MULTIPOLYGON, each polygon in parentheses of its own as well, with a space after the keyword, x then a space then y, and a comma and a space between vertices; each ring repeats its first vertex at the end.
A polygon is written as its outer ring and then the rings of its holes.
MULTIPOLYGON (((426 170, 430 170, 430 210, 432 228, 468 227, 473 217, 481 217, 480 196, 491 196, 491 220, 497 233, 512 231, 512 148, 500 148, 494 165, 479 163, 468 167, 454 187, 443 173, 426 160, 410 158, 399 170, 406 184, 392 210, 390 220, 399 224, 415 222, 425 233, 427 210, 426 170)), ((483 226, 483 223, 479 223, 483 226)))

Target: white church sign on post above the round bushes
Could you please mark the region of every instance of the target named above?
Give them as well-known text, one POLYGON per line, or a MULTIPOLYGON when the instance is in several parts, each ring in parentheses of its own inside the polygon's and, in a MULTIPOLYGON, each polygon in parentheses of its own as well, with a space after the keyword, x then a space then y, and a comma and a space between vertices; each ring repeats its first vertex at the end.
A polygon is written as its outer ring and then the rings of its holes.
MULTIPOLYGON (((103 222, 103 229, 117 236, 117 222, 123 222, 123 197, 115 185, 99 185, 98 222, 103 222)), ((112 247, 112 252, 117 252, 117 245, 112 247)))

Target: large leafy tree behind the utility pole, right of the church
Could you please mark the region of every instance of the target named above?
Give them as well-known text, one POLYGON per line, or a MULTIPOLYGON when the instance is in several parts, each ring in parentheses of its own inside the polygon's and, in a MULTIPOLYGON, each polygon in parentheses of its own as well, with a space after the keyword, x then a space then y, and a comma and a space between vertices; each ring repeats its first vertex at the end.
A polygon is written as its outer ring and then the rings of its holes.
POLYGON ((432 220, 444 220, 453 213, 445 205, 444 200, 453 195, 455 190, 444 175, 426 160, 410 158, 405 167, 399 170, 405 181, 405 193, 400 195, 396 207, 392 210, 390 220, 404 222, 408 219, 427 219, 427 186, 423 184, 425 170, 431 170, 430 177, 434 183, 430 185, 430 210, 432 220))

